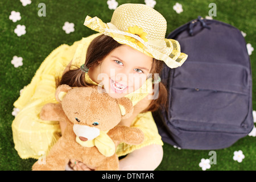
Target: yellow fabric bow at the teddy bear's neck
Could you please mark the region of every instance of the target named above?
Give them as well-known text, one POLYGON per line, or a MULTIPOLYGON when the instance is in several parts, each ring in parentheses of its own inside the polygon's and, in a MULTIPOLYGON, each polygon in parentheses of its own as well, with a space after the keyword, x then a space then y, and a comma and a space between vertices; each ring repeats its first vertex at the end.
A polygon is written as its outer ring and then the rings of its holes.
POLYGON ((108 131, 100 131, 100 135, 98 135, 98 137, 85 142, 80 140, 79 137, 76 137, 76 142, 83 147, 96 146, 102 155, 109 157, 115 154, 115 144, 107 133, 108 131))

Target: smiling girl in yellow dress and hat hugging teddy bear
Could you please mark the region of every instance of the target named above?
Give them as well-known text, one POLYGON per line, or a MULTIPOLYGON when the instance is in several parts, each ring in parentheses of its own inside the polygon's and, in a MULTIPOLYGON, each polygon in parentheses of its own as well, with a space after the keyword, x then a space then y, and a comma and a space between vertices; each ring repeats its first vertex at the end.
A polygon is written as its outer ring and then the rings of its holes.
MULTIPOLYGON (((55 49, 14 103, 20 109, 12 125, 15 149, 21 158, 42 158, 64 131, 64 122, 39 118, 43 105, 56 102, 57 85, 98 85, 110 97, 131 100, 134 113, 119 125, 138 127, 144 133, 142 144, 119 143, 117 155, 126 155, 119 160, 119 169, 154 170, 162 161, 163 142, 151 111, 167 100, 158 74, 164 63, 170 68, 179 67, 187 55, 180 52, 178 42, 164 39, 166 20, 146 5, 121 5, 110 23, 87 16, 84 24, 101 34, 55 49)), ((76 159, 71 159, 69 166, 75 170, 94 169, 76 159)))

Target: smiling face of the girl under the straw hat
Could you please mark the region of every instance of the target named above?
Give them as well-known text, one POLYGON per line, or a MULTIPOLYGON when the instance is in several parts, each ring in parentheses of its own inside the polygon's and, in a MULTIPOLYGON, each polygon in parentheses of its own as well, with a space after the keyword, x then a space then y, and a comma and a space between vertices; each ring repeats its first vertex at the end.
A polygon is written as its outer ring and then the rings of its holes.
POLYGON ((97 66, 97 82, 106 93, 121 98, 141 88, 152 67, 152 57, 129 46, 115 48, 97 66))

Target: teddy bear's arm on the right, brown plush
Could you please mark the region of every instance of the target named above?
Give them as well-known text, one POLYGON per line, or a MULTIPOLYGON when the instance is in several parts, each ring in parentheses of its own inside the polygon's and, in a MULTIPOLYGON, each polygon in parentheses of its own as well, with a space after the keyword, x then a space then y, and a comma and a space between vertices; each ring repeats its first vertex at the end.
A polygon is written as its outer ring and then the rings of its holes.
POLYGON ((136 127, 117 125, 108 132, 108 135, 113 140, 127 144, 140 144, 144 140, 143 132, 136 127))

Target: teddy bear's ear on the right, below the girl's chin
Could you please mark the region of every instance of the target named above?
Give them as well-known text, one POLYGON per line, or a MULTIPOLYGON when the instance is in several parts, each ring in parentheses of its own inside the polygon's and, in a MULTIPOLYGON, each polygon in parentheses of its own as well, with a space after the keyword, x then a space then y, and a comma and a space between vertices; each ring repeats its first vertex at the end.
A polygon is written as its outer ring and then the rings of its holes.
POLYGON ((129 100, 129 98, 122 97, 117 98, 117 104, 119 105, 122 119, 127 119, 133 114, 133 104, 129 100))

